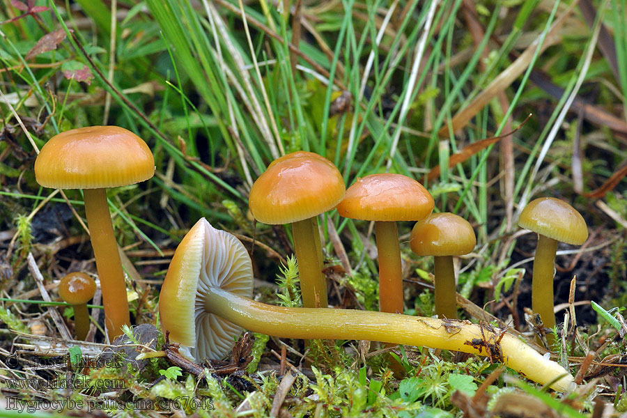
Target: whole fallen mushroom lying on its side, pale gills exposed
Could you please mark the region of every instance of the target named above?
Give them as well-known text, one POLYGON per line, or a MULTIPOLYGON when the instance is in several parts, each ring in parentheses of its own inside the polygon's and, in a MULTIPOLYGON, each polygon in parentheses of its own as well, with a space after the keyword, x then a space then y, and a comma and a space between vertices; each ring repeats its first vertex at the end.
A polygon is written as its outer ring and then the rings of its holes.
POLYGON ((169 332, 171 341, 194 348, 198 361, 226 355, 233 346, 234 340, 229 338, 233 334, 227 336, 222 327, 205 325, 222 318, 224 323, 235 324, 229 325, 230 329, 244 327, 281 338, 360 339, 474 353, 504 362, 541 384, 550 382, 555 390, 569 390, 574 385, 573 376, 557 362, 502 330, 468 321, 387 312, 275 307, 247 297, 253 281, 251 272, 242 243, 200 219, 178 245, 161 289, 163 332, 169 332), (243 278, 249 281, 248 286, 240 281, 243 278), (238 291, 227 290, 235 282, 238 291), (203 316, 211 319, 199 319, 203 316), (216 335, 210 335, 214 330, 216 335), (216 338, 224 344, 201 338, 216 338), (219 350, 206 349, 212 346, 219 346, 219 350))

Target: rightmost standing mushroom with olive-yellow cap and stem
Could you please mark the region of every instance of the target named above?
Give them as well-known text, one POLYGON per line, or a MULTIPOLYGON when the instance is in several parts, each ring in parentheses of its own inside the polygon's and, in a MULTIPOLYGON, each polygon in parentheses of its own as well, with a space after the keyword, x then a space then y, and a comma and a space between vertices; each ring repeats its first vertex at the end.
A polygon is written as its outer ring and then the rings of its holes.
MULTIPOLYGON (((541 197, 529 202, 520 213, 518 226, 538 233, 532 279, 532 309, 547 328, 555 327, 553 312, 553 270, 559 241, 582 245, 588 229, 581 214, 565 201, 541 197)), ((555 341, 548 336, 547 341, 555 341)))

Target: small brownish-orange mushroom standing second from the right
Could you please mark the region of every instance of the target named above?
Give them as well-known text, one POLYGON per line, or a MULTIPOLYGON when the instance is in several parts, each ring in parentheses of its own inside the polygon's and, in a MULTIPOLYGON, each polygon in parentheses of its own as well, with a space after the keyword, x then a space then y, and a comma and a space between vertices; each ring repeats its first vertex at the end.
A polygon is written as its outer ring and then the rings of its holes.
POLYGON ((449 212, 435 213, 416 222, 410 247, 419 256, 434 256, 435 314, 457 319, 453 256, 470 253, 477 245, 472 226, 449 212))

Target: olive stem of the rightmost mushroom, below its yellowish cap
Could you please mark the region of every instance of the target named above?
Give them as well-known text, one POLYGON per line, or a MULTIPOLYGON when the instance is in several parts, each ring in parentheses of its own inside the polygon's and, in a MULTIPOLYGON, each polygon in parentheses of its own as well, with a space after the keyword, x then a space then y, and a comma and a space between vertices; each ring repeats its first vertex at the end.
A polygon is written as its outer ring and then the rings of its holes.
MULTIPOLYGON (((545 235, 539 234, 538 237, 532 281, 532 309, 536 314, 540 314, 546 328, 552 328, 555 327, 553 271, 558 242, 545 235)), ((550 347, 555 342, 555 335, 547 334, 546 339, 550 347)))

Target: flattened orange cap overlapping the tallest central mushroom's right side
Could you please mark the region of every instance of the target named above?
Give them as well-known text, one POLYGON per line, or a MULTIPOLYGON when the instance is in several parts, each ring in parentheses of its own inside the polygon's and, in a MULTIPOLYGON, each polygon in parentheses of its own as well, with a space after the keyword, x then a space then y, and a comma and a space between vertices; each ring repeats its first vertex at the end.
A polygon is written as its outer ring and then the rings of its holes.
POLYGON ((370 174, 346 190, 337 212, 366 221, 417 221, 433 210, 433 197, 413 178, 402 174, 370 174))

